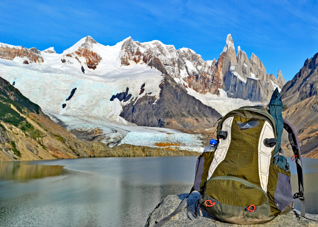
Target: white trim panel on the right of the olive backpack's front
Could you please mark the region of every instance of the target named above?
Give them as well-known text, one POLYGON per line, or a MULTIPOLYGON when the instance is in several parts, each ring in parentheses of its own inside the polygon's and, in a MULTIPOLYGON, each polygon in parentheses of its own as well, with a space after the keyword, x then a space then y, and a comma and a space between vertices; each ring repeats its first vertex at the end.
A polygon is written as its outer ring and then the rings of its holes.
POLYGON ((269 164, 271 161, 272 151, 275 148, 275 146, 266 147, 264 145, 264 139, 266 138, 275 138, 274 130, 268 121, 265 121, 263 125, 262 132, 259 136, 258 146, 259 181, 264 191, 267 191, 269 164))

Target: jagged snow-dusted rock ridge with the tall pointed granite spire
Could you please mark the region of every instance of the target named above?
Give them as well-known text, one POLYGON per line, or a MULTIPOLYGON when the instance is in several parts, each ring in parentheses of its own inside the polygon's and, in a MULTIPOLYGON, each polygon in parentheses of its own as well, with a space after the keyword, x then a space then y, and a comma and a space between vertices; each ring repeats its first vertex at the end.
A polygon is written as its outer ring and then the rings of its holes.
POLYGON ((128 38, 121 49, 124 51, 122 65, 145 63, 156 67, 180 86, 199 94, 219 95, 223 89, 229 97, 266 103, 274 89, 281 89, 286 83, 280 71, 280 81, 273 74, 266 74, 264 65, 255 54, 249 60, 240 47, 236 54, 231 34, 227 36, 218 61, 204 61, 188 48, 176 50, 174 46, 157 40, 139 43, 128 38))

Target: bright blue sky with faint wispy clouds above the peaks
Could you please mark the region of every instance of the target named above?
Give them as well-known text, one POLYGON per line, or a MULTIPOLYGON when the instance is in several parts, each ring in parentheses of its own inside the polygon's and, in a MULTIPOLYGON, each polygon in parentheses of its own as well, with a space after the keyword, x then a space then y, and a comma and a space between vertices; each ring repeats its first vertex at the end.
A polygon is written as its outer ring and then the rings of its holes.
POLYGON ((0 42, 62 53, 87 35, 104 45, 131 36, 217 60, 231 33, 236 49, 256 54, 268 74, 281 69, 288 81, 318 52, 317 12, 317 0, 0 0, 0 42))

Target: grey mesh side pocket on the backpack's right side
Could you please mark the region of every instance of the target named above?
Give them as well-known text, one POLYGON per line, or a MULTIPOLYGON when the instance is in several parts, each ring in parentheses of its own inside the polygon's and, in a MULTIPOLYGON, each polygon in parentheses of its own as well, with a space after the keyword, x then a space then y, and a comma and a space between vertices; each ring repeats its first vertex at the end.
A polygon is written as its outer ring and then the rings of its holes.
POLYGON ((283 211, 294 201, 290 176, 278 173, 277 185, 274 193, 274 203, 280 211, 283 211))

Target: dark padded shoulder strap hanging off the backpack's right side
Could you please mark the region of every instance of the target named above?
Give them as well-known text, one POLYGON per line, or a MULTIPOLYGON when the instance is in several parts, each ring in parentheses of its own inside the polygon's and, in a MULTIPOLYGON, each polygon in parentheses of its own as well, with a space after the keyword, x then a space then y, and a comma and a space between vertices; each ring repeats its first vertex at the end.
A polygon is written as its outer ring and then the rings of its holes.
POLYGON ((305 217, 306 208, 305 208, 305 197, 304 197, 304 179, 302 173, 302 162, 301 162, 301 150, 299 145, 298 136, 294 127, 283 118, 284 129, 288 132, 288 140, 290 145, 293 148, 295 162, 297 166, 297 175, 298 175, 298 189, 299 192, 294 194, 294 199, 299 198, 301 201, 301 216, 305 217))

